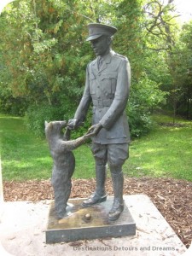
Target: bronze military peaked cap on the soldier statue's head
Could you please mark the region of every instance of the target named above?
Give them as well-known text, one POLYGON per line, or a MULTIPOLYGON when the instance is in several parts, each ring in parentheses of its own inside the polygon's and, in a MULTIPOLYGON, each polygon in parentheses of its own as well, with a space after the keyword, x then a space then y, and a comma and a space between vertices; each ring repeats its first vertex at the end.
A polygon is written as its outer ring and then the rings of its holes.
POLYGON ((107 35, 111 37, 115 32, 117 32, 116 27, 108 26, 100 23, 90 23, 88 25, 88 29, 89 29, 89 37, 86 39, 86 41, 91 41, 96 38, 100 38, 103 35, 107 35))

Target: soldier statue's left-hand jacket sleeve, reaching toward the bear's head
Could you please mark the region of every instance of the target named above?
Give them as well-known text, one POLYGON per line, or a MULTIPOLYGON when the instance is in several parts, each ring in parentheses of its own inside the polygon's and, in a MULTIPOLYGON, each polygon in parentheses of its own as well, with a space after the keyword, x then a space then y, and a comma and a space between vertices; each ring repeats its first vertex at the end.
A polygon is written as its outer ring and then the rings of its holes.
POLYGON ((84 94, 79 103, 79 107, 76 110, 74 115, 75 119, 78 119, 80 122, 84 122, 86 118, 87 111, 90 107, 91 96, 90 96, 90 79, 89 79, 89 67, 86 69, 86 81, 84 87, 84 94))

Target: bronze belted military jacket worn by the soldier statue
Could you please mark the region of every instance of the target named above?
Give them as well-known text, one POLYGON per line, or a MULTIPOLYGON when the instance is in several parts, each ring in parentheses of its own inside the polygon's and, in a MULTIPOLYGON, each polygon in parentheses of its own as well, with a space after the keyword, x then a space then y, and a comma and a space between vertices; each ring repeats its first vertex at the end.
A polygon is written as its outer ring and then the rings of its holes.
POLYGON ((92 125, 100 123, 103 127, 97 136, 93 137, 93 142, 101 144, 130 142, 125 113, 130 81, 129 61, 113 51, 102 57, 100 69, 98 58, 87 66, 84 95, 74 118, 84 121, 92 102, 92 125))

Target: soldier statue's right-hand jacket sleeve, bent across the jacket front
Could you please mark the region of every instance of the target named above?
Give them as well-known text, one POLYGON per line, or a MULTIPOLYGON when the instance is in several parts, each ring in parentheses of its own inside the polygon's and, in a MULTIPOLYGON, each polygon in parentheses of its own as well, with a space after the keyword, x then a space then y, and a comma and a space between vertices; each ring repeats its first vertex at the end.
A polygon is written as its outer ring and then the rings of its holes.
POLYGON ((100 124, 109 130, 124 112, 129 97, 131 85, 131 68, 129 61, 125 58, 119 64, 116 91, 113 102, 107 113, 100 120, 100 124))

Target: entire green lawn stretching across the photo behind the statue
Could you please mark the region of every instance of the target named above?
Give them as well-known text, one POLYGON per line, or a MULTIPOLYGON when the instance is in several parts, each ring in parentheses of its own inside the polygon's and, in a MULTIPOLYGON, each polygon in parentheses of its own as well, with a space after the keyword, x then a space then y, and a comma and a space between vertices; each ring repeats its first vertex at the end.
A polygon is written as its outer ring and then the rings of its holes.
MULTIPOLYGON (((155 115, 159 123, 172 118, 155 115)), ((130 158, 124 172, 129 177, 173 177, 192 181, 192 122, 177 119, 178 126, 156 125, 147 136, 131 142, 130 158)), ((3 180, 47 179, 52 159, 44 138, 26 129, 24 119, 0 115, 3 180)), ((76 170, 73 177, 95 177, 90 145, 73 151, 76 170)))

